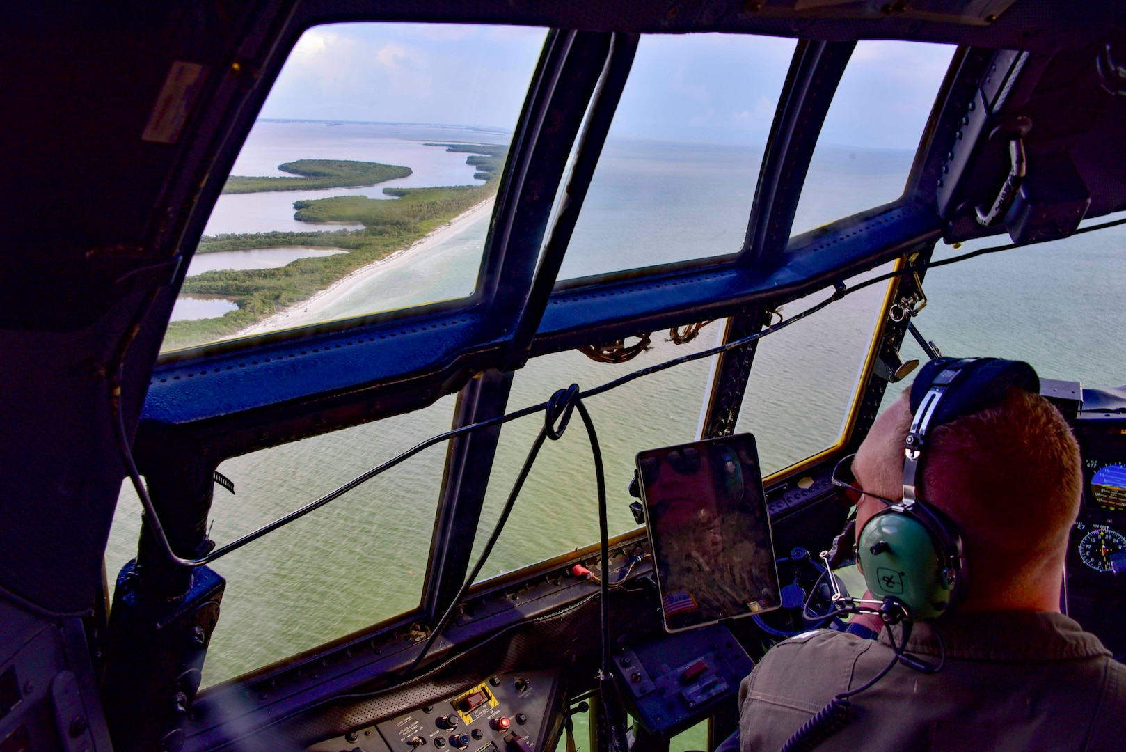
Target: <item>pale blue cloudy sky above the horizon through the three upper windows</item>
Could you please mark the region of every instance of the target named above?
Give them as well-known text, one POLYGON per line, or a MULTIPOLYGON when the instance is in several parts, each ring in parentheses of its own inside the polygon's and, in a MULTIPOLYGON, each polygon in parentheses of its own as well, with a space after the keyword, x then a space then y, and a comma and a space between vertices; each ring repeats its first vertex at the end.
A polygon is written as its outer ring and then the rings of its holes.
MULTIPOLYGON (((538 28, 452 24, 315 27, 294 47, 261 117, 511 131, 544 37, 538 28)), ((765 36, 644 36, 611 136, 761 144, 794 46, 765 36)), ((953 52, 860 42, 822 141, 914 149, 953 52)))

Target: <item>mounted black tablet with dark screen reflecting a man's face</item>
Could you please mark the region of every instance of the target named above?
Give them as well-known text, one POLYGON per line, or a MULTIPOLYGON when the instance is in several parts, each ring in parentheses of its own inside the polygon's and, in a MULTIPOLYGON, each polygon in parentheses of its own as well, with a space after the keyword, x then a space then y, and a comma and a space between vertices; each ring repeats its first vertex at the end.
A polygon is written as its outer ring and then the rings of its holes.
POLYGON ((637 475, 665 630, 778 608, 754 436, 638 452, 637 475))

